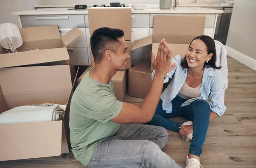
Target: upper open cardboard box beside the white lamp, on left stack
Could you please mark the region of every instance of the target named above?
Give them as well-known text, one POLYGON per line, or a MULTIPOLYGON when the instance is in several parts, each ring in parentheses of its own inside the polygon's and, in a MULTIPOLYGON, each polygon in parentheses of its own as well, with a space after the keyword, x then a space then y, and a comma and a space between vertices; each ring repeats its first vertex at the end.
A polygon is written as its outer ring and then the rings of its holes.
MULTIPOLYGON (((16 53, 5 54, 0 46, 0 68, 38 65, 69 65, 74 81, 75 67, 69 64, 66 46, 74 41, 82 31, 74 27, 66 35, 59 33, 58 26, 20 28, 23 40, 16 53), (39 49, 39 50, 36 50, 39 49)), ((47 69, 47 68, 46 68, 47 69)))

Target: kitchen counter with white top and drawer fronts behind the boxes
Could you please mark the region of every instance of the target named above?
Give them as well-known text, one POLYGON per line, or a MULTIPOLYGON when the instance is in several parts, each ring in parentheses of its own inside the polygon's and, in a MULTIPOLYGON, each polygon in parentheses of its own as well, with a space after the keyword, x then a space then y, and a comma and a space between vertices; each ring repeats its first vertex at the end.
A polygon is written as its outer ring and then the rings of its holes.
MULTIPOLYGON (((126 6, 126 5, 125 5, 126 6)), ((75 43, 67 46, 70 62, 74 65, 90 65, 90 25, 87 9, 72 9, 74 6, 62 6, 55 8, 40 8, 29 11, 12 12, 17 15, 20 21, 20 27, 36 27, 57 25, 59 32, 65 35, 73 27, 77 27, 83 33, 75 43), (71 10, 69 10, 71 9, 71 10), (75 60, 74 60, 75 59, 75 60)), ((91 6, 88 6, 90 9, 91 6)), ((105 7, 108 8, 108 7, 105 7)), ((105 9, 103 8, 103 9, 105 9)), ((131 46, 135 40, 148 37, 154 31, 154 16, 199 16, 205 17, 204 35, 214 37, 215 28, 218 26, 218 16, 223 10, 199 7, 177 7, 175 9, 160 9, 156 5, 148 5, 143 10, 134 10, 131 7, 118 7, 116 9, 125 9, 132 11, 131 14, 131 46)), ((102 8, 95 8, 100 10, 102 8)), ((108 8, 109 9, 109 8, 108 8)), ((115 9, 112 8, 111 9, 115 9)), ((111 10, 110 9, 110 10, 111 10)), ((100 12, 100 11, 99 11, 100 12)), ((143 46, 131 51, 131 65, 136 64, 140 59, 148 59, 151 56, 152 46, 143 46)))

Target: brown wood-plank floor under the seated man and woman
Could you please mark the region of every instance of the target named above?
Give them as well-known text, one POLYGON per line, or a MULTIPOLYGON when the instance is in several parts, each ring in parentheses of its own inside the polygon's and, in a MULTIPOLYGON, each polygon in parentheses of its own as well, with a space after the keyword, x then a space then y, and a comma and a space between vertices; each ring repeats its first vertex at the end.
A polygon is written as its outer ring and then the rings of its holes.
MULTIPOLYGON (((256 168, 256 72, 228 58, 227 111, 210 123, 204 142, 201 165, 204 168, 256 168)), ((140 105, 143 99, 126 97, 140 105)), ((185 121, 177 118, 175 120, 185 121)), ((190 142, 168 130, 169 142, 163 151, 185 167, 190 142)), ((0 168, 82 168, 73 154, 0 162, 0 168)))

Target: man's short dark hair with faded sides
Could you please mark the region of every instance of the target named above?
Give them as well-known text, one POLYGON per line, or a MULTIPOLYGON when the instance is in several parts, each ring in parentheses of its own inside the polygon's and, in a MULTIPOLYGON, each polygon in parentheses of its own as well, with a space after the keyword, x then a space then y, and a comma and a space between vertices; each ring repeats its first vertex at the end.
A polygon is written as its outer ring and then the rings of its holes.
POLYGON ((90 37, 90 47, 94 62, 100 63, 107 49, 116 52, 120 46, 118 38, 122 38, 123 36, 124 32, 120 29, 112 29, 109 27, 96 29, 90 37))

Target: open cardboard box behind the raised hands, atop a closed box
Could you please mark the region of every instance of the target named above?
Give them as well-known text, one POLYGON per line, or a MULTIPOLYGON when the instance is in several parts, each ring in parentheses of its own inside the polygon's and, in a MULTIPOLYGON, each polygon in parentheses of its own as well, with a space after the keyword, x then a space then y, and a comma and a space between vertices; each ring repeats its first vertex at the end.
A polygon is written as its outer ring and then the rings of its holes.
MULTIPOLYGON (((204 24, 205 17, 201 16, 156 15, 153 35, 134 41, 131 50, 152 44, 152 51, 157 55, 159 43, 165 38, 173 49, 173 56, 185 56, 191 41, 198 35, 204 35, 204 24)), ((152 70, 154 67, 151 65, 152 70)))

